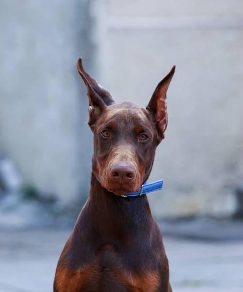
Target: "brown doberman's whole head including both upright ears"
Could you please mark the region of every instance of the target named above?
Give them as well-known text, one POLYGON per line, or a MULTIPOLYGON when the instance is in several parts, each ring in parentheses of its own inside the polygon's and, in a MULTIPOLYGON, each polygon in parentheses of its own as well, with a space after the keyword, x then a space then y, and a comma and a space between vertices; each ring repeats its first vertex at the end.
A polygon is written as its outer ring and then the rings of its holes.
POLYGON ((93 174, 116 195, 135 192, 144 183, 154 161, 156 146, 167 127, 166 91, 175 67, 159 82, 146 108, 131 102, 116 104, 83 69, 89 97, 88 125, 94 133, 93 174))

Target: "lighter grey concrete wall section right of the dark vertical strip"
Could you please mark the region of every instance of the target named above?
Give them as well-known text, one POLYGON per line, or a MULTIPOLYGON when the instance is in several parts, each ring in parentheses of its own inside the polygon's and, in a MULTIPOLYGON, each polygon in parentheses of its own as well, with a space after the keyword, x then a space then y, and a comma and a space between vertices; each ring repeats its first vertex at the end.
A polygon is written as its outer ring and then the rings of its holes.
POLYGON ((176 64, 156 216, 230 215, 243 177, 243 2, 106 1, 103 85, 146 105, 176 64))

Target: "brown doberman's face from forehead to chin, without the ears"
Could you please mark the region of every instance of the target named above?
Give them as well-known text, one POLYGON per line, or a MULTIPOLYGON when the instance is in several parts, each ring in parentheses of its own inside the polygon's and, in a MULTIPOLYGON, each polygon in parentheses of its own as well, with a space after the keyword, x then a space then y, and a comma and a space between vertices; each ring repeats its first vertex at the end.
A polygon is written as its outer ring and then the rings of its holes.
POLYGON ((148 110, 112 104, 94 127, 93 172, 109 191, 135 192, 150 172, 157 137, 148 110))

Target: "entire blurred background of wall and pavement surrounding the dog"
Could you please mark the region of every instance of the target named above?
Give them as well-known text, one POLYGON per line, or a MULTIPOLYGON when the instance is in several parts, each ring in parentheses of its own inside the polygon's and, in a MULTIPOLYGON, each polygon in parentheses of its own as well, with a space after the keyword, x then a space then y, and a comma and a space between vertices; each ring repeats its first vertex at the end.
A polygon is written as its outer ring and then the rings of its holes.
POLYGON ((87 199, 79 56, 117 102, 143 106, 176 65, 150 177, 164 188, 149 195, 171 282, 242 292, 243 2, 0 0, 0 35, 0 292, 52 291, 87 199))

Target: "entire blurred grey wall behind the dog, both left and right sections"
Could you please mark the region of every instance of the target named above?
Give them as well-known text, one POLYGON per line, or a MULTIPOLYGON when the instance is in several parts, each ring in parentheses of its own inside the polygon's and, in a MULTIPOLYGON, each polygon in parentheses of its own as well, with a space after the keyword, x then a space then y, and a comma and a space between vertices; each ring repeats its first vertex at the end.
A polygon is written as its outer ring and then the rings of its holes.
POLYGON ((144 106, 176 64, 151 175, 164 179, 163 192, 149 195, 153 212, 234 212, 243 177, 242 1, 0 0, 0 24, 0 155, 26 183, 64 206, 87 196, 92 135, 79 55, 116 101, 144 106))

